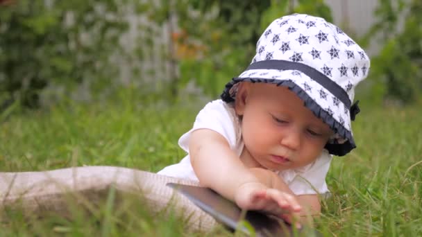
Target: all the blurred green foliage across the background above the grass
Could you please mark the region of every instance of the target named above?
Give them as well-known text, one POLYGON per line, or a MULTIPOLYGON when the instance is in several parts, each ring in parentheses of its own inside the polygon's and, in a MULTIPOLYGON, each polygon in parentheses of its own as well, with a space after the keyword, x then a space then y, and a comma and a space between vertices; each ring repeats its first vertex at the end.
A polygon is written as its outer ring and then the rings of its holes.
MULTIPOLYGON (((363 40, 378 34, 385 41, 372 63, 375 94, 404 102, 420 94, 421 4, 380 1, 378 22, 363 40), (399 15, 405 15, 400 32, 399 15)), ((332 21, 323 0, 12 1, 0 7, 0 110, 6 100, 36 107, 39 91, 49 84, 71 91, 88 80, 92 91, 110 89, 122 67, 129 70, 130 87, 155 88, 151 93, 174 99, 193 83, 202 94, 217 97, 251 62, 264 28, 292 12, 332 21), (144 19, 146 25, 134 29, 128 15, 144 19), (130 28, 140 37, 128 48, 121 38, 130 28), (164 63, 140 67, 148 60, 164 63), (154 71, 166 71, 167 78, 154 71), (149 86, 151 81, 160 86, 149 86)))

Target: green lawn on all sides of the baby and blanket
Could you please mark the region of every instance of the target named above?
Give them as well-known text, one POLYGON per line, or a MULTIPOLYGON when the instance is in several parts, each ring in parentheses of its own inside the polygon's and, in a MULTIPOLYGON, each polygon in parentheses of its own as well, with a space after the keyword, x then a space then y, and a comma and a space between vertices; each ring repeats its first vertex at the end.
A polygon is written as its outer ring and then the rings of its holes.
MULTIPOLYGON (((90 105, 19 108, 0 116, 0 170, 110 165, 158 171, 185 154, 177 140, 204 103, 152 102, 133 91, 90 105)), ((422 235, 422 111, 369 107, 353 123, 358 148, 335 157, 318 229, 326 236, 422 235)), ((180 220, 151 218, 139 200, 108 200, 67 216, 26 217, 7 211, 0 236, 185 236, 180 220)), ((69 205, 72 205, 69 203, 69 205)), ((227 234, 224 231, 210 234, 227 234)), ((201 235, 201 234, 199 234, 201 235)))

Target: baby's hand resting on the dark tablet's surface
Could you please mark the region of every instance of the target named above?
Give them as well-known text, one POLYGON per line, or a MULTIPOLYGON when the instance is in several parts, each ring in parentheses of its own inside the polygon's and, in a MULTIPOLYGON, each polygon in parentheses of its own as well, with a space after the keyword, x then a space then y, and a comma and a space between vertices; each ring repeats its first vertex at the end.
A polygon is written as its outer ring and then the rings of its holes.
POLYGON ((302 209, 293 195, 268 188, 260 182, 248 182, 239 186, 235 193, 235 202, 242 209, 264 211, 289 223, 292 223, 292 217, 302 209))

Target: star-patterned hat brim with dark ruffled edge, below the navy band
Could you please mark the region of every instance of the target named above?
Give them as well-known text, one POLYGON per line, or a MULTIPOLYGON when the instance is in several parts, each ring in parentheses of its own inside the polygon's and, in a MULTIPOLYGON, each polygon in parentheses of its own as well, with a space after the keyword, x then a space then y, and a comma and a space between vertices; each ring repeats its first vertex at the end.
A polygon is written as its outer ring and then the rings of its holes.
POLYGON ((305 107, 329 125, 336 136, 339 137, 339 139, 333 139, 326 144, 325 148, 330 154, 344 156, 356 148, 351 132, 350 115, 345 117, 345 114, 348 113, 348 107, 345 108, 345 105, 339 101, 333 105, 332 98, 335 96, 332 96, 330 91, 312 80, 305 73, 296 70, 282 71, 269 69, 245 71, 239 77, 233 78, 226 84, 221 94, 223 101, 230 103, 235 100, 235 91, 232 88, 239 82, 269 83, 280 87, 287 87, 303 100, 305 107), (319 93, 315 93, 312 90, 318 91, 319 93), (318 96, 320 98, 317 98, 318 96), (324 97, 326 100, 324 100, 324 97), (319 103, 316 101, 319 101, 319 103))

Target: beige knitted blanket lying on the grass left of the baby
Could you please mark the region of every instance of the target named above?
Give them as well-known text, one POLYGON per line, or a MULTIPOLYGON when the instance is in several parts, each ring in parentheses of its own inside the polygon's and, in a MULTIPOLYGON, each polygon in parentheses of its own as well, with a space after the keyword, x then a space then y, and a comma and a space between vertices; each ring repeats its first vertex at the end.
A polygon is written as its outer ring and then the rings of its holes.
POLYGON ((153 211, 162 211, 171 201, 176 211, 187 218, 189 229, 209 231, 215 220, 183 195, 166 186, 167 182, 198 185, 155 173, 113 166, 84 166, 42 172, 0 173, 0 212, 19 203, 26 213, 67 209, 69 194, 95 202, 104 199, 111 187, 117 193, 135 193, 153 211), (174 202, 173 202, 174 200, 174 202))

